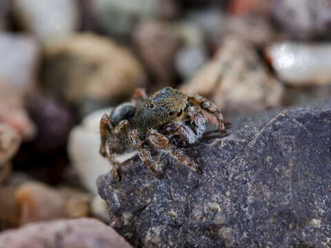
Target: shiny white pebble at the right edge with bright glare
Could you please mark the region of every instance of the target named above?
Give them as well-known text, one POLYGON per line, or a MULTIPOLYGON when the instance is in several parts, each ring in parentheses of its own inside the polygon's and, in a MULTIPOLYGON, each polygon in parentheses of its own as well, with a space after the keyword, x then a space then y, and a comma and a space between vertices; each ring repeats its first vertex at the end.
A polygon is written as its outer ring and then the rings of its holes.
POLYGON ((274 43, 265 54, 287 85, 331 84, 331 43, 274 43))

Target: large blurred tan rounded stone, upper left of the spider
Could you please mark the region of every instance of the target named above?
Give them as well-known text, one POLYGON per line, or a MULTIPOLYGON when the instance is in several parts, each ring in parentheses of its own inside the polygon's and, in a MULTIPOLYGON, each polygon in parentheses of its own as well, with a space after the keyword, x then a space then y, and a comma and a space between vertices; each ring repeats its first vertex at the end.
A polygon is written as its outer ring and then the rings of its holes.
POLYGON ((143 87, 146 75, 128 48, 94 34, 77 34, 48 50, 45 86, 71 103, 120 101, 143 87))

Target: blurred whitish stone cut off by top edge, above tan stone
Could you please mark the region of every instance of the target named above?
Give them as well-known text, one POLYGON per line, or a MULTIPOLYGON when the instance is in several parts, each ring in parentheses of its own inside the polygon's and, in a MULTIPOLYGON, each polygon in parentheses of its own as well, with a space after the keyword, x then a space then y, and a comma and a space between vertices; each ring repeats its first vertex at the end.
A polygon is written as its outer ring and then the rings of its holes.
POLYGON ((48 45, 79 28, 79 10, 74 0, 14 0, 19 25, 48 45))

